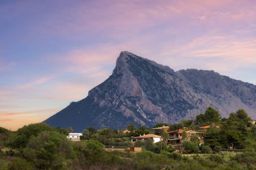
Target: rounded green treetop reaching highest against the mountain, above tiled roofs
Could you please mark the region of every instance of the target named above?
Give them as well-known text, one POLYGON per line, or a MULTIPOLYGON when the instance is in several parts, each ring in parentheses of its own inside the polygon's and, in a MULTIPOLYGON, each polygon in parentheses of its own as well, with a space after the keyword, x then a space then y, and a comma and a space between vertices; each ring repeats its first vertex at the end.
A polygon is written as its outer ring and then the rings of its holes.
POLYGON ((196 122, 201 124, 212 124, 214 122, 220 122, 221 116, 217 110, 213 108, 207 108, 205 114, 199 114, 196 117, 196 122))

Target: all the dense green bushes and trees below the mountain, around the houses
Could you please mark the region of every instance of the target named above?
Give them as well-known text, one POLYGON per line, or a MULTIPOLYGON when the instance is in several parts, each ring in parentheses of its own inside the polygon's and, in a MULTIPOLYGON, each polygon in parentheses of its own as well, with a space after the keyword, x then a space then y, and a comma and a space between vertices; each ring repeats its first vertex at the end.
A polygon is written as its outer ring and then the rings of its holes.
POLYGON ((0 169, 256 169, 256 126, 251 124, 244 110, 221 118, 218 111, 208 108, 195 120, 157 124, 156 127, 163 125, 170 126, 170 130, 211 128, 205 131, 205 142, 201 146, 196 135, 184 140, 180 149, 183 154, 174 152, 174 145, 168 144, 166 133, 152 132, 143 126, 136 128, 133 124, 127 125, 127 130, 131 131, 127 134, 109 128, 88 127, 81 141, 66 137, 71 127, 65 130, 46 124, 30 124, 15 132, 0 128, 0 169), (141 153, 104 149, 131 146, 131 136, 149 133, 160 134, 164 140, 156 144, 150 139, 135 142, 134 146, 142 146, 141 153), (229 155, 223 151, 229 151, 229 155))

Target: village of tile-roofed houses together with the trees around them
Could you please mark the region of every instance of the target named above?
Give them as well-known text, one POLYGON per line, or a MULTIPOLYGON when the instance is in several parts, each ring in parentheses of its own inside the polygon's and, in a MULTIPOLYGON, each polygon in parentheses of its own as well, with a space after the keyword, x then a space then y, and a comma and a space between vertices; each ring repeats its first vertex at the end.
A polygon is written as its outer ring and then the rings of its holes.
POLYGON ((97 140, 106 151, 236 153, 243 152, 247 146, 254 146, 251 140, 245 140, 254 130, 255 121, 244 110, 230 114, 227 119, 221 118, 217 110, 207 108, 195 120, 181 120, 178 124, 160 123, 154 128, 136 128, 130 123, 123 130, 88 127, 80 133, 70 132, 67 138, 72 141, 97 140))

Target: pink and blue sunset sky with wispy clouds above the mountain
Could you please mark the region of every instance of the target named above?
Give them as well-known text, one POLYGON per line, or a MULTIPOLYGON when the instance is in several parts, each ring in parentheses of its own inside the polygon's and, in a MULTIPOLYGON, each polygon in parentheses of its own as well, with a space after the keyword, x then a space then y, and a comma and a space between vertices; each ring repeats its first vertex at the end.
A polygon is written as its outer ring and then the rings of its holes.
POLYGON ((256 85, 256 1, 1 0, 0 126, 84 99, 123 50, 256 85))

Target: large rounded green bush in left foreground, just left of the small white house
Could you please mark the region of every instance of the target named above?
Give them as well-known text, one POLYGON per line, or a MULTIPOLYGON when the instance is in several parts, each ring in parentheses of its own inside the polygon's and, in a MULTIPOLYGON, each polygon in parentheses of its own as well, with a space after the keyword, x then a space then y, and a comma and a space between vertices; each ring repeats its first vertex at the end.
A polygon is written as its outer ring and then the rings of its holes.
POLYGON ((71 141, 58 132, 44 131, 30 138, 23 155, 39 169, 59 169, 72 157, 71 141))

